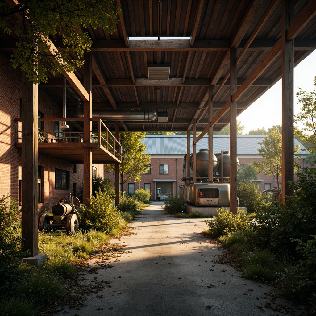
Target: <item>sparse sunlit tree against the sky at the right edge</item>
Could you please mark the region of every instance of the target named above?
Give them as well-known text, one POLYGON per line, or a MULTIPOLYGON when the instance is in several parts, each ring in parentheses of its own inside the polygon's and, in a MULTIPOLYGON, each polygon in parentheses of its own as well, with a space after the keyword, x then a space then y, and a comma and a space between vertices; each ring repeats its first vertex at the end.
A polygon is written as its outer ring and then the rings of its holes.
MULTIPOLYGON (((314 78, 314 86, 316 86, 316 77, 314 78)), ((301 112, 295 115, 295 123, 303 123, 305 127, 303 131, 303 139, 305 142, 313 144, 312 147, 308 148, 308 151, 312 152, 316 149, 316 90, 308 93, 302 88, 296 93, 298 102, 302 104, 301 112)))

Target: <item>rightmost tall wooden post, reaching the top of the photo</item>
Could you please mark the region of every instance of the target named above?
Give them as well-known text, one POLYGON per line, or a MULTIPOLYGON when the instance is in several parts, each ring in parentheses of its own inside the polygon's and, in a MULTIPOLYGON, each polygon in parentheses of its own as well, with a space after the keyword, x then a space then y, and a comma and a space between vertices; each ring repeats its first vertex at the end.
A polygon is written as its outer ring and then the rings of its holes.
POLYGON ((287 181, 294 179, 294 40, 287 29, 294 20, 294 1, 282 0, 282 203, 293 195, 287 181))

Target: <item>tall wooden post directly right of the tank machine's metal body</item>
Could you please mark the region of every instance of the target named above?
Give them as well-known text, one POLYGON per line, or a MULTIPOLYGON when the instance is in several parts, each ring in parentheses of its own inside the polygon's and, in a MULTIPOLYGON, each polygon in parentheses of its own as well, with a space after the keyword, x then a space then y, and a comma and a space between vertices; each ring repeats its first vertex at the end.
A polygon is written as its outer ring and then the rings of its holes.
POLYGON ((236 48, 230 49, 229 54, 229 90, 230 90, 230 117, 229 117, 229 151, 230 151, 230 211, 237 214, 237 102, 233 102, 233 94, 237 90, 237 58, 236 48))

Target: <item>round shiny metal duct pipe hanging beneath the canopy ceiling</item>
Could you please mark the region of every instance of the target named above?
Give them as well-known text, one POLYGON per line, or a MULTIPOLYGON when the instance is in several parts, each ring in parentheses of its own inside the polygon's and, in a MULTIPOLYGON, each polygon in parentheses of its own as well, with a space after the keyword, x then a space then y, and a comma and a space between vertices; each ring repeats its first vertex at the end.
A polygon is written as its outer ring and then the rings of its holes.
MULTIPOLYGON (((80 105, 76 107, 76 118, 83 118, 80 105)), ((155 121, 158 113, 153 109, 139 110, 92 110, 92 118, 100 118, 104 121, 155 121)))

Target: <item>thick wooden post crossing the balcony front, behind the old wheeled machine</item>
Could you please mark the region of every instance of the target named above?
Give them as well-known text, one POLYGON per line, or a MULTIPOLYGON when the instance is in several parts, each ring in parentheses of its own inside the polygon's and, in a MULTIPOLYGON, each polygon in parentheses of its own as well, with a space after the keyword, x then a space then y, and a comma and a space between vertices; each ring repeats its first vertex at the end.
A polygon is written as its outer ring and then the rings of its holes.
MULTIPOLYGON (((91 143, 92 130, 92 55, 85 52, 83 86, 89 94, 89 101, 83 102, 83 142, 91 143)), ((83 148, 83 204, 90 206, 92 194, 92 147, 83 148)))

